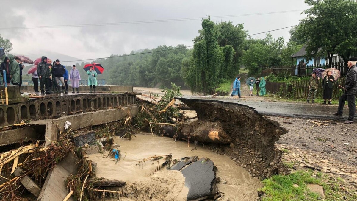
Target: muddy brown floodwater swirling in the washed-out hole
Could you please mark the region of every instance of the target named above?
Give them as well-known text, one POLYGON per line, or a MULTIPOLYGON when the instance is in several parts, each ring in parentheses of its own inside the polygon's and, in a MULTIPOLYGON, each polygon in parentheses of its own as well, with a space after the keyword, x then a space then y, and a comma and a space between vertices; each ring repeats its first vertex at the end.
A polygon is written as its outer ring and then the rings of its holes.
MULTIPOLYGON (((181 172, 167 171, 166 168, 156 171, 156 167, 162 164, 163 160, 145 163, 139 163, 139 161, 154 155, 164 156, 170 153, 172 159, 186 156, 207 157, 215 163, 218 169, 216 177, 220 177, 221 182, 217 186, 218 191, 224 195, 223 200, 228 200, 228 198, 229 200, 257 200, 257 189, 262 187, 262 184, 258 179, 252 178, 242 167, 237 166, 236 162, 229 157, 217 155, 201 145, 197 145, 197 150, 192 150, 193 144, 188 147, 187 142, 175 142, 168 137, 156 137, 151 134, 138 134, 136 137, 131 141, 119 137, 114 139, 114 143, 120 146, 118 149, 126 152, 126 156, 122 153, 122 160, 117 163, 112 158, 105 158, 106 153, 89 155, 88 159, 98 164, 96 176, 127 182, 126 192, 144 189, 145 194, 152 193, 151 200, 185 200, 188 189, 184 185, 185 178, 181 172), (148 190, 149 188, 152 189, 148 190), (159 195, 158 191, 166 195, 159 195), (168 194, 172 194, 171 197, 168 194)), ((135 196, 140 197, 134 193, 133 199, 124 200, 140 200, 135 196)), ((141 199, 146 200, 145 197, 141 199)))

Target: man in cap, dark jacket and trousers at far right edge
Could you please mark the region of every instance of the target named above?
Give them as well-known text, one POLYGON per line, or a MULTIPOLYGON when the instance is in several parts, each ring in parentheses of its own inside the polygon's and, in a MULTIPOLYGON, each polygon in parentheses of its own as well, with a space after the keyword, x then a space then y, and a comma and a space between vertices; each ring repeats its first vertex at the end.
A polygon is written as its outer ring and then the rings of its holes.
MULTIPOLYGON (((338 100, 338 111, 333 114, 335 116, 342 116, 343 106, 347 100, 348 105, 348 119, 342 123, 353 123, 353 117, 356 113, 356 93, 357 93, 357 57, 351 57, 347 60, 348 72, 346 75, 345 87, 343 88, 345 92, 340 96, 338 100)), ((341 86, 339 86, 341 87, 341 86)))

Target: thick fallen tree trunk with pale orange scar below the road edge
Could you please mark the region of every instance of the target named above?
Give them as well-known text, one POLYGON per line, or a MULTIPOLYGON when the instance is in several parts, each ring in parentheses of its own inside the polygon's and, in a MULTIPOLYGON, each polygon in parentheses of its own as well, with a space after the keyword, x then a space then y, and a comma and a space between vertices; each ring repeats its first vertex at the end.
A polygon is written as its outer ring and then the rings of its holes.
POLYGON ((160 128, 163 136, 197 142, 213 142, 228 144, 231 138, 223 130, 220 122, 195 121, 190 124, 183 124, 180 128, 163 126, 160 128))

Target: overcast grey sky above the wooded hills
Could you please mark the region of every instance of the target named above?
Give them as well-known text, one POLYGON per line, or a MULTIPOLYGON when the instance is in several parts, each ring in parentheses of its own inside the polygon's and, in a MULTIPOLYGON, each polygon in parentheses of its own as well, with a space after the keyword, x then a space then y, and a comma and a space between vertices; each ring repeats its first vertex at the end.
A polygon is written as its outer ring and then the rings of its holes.
MULTIPOLYGON (((117 23, 304 10, 303 0, 18 0, 7 1, 0 12, 0 28, 117 23)), ((302 11, 214 18, 244 23, 248 34, 296 25, 302 11)), ((201 20, 72 28, 0 30, 11 40, 14 53, 52 51, 80 59, 109 57, 159 45, 193 45, 201 20)), ((289 39, 289 29, 273 31, 289 39)), ((254 36, 263 38, 265 34, 254 36)))

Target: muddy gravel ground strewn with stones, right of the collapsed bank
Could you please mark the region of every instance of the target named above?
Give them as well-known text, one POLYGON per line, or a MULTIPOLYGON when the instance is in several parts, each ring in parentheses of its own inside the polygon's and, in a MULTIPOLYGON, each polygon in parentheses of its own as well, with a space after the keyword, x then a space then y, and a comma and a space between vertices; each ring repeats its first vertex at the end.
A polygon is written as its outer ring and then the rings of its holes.
POLYGON ((281 162, 285 166, 325 172, 330 182, 344 181, 342 190, 357 191, 357 123, 346 125, 330 120, 323 122, 328 126, 313 126, 313 119, 267 118, 288 130, 276 142, 276 147, 283 151, 281 162))

